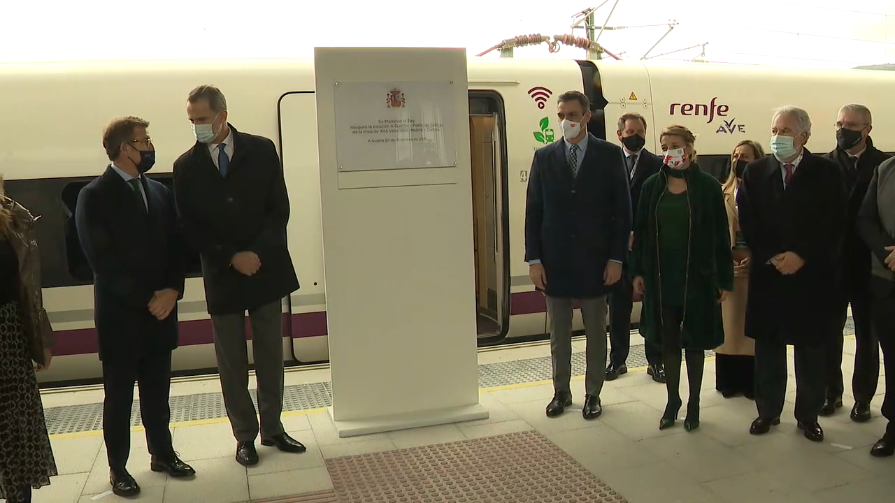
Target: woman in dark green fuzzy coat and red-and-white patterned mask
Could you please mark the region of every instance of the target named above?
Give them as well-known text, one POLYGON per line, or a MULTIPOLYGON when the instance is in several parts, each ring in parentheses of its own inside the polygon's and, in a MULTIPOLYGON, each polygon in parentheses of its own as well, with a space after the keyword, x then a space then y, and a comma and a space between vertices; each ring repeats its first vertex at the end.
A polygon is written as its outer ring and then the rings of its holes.
POLYGON ((634 290, 644 298, 640 334, 661 346, 668 377, 659 429, 674 425, 682 405, 683 348, 690 387, 684 427, 694 431, 705 350, 724 342, 721 303, 733 291, 733 257, 724 194, 696 164, 693 132, 673 125, 659 139, 664 166, 644 182, 630 268, 634 290))

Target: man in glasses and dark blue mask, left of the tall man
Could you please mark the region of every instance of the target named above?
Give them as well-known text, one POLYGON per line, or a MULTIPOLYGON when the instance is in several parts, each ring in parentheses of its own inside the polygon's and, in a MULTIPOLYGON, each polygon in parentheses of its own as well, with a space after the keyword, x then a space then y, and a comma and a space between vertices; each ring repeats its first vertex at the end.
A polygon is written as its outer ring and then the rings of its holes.
POLYGON ((150 467, 172 477, 194 474, 171 445, 171 352, 177 347, 177 301, 183 298, 186 262, 174 198, 143 174, 155 149, 139 117, 110 122, 103 147, 112 164, 88 183, 75 207, 75 226, 93 269, 94 320, 103 365, 103 436, 109 482, 119 496, 140 485, 127 472, 131 452, 133 383, 150 467))

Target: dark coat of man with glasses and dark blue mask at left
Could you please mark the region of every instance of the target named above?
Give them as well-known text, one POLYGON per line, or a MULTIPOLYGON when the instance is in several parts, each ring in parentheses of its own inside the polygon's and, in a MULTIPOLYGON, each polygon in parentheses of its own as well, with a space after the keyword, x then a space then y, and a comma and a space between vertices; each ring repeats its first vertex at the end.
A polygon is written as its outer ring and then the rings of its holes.
POLYGON ((99 358, 116 362, 177 347, 177 308, 165 320, 149 312, 157 290, 183 298, 186 254, 174 198, 143 176, 149 213, 112 166, 78 194, 75 225, 93 269, 99 358))

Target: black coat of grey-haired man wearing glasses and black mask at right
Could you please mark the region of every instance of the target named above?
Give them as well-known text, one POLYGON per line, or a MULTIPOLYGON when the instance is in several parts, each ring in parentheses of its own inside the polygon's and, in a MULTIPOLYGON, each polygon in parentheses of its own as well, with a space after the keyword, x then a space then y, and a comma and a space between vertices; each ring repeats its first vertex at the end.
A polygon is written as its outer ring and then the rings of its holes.
POLYGON ((870 249, 857 234, 857 212, 861 208, 870 180, 874 177, 876 166, 880 166, 889 157, 889 154, 876 149, 870 138, 867 138, 867 149, 857 159, 857 173, 848 173, 848 153, 844 150, 835 149, 824 156, 840 166, 848 194, 848 219, 840 260, 841 285, 846 295, 865 290, 870 279, 870 249))

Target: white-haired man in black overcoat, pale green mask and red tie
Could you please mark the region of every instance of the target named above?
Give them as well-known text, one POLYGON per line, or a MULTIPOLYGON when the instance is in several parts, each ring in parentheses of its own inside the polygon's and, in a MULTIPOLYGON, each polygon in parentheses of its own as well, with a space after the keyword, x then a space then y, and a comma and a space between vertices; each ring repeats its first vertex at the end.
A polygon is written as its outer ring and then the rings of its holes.
POLYGON ((824 349, 840 329, 837 267, 845 228, 839 166, 805 143, 811 119, 780 107, 771 120, 772 156, 746 166, 737 194, 739 224, 752 251, 746 337, 755 339, 755 405, 750 432, 780 424, 786 397, 787 345, 796 352, 796 420, 821 441, 824 349))

